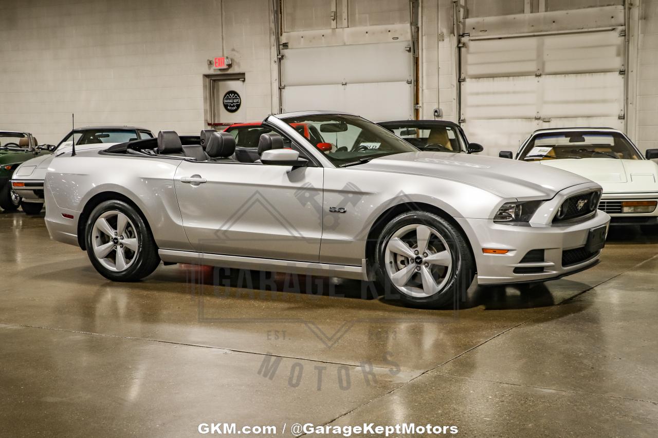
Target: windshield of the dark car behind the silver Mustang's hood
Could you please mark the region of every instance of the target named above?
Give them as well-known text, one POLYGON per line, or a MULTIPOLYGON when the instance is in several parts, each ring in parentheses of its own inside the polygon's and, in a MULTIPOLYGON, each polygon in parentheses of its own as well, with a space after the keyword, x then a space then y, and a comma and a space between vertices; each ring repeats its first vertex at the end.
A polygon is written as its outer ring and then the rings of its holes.
POLYGON ((409 141, 418 149, 426 151, 441 152, 463 152, 466 153, 466 143, 461 132, 453 126, 436 124, 400 123, 383 124, 384 128, 393 132, 398 137, 409 141))

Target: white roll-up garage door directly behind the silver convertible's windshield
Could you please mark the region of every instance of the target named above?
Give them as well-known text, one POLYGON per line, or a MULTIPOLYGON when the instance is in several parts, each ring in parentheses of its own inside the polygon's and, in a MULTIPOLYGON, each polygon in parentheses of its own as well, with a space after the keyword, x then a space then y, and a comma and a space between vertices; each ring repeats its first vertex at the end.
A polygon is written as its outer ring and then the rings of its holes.
POLYGON ((373 121, 413 118, 410 41, 282 51, 284 112, 340 110, 373 121))

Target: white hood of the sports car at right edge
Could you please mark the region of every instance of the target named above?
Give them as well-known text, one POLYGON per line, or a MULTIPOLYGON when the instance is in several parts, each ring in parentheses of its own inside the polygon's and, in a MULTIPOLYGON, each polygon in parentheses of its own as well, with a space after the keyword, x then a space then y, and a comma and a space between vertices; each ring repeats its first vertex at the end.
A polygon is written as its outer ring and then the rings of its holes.
POLYGON ((563 158, 540 163, 589 178, 601 184, 604 193, 658 191, 658 164, 651 160, 563 158))

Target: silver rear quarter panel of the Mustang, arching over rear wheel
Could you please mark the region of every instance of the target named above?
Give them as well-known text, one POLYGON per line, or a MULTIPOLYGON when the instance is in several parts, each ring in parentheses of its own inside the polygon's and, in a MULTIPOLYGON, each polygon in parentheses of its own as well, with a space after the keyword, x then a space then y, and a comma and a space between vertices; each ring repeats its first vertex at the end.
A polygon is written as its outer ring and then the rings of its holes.
POLYGON ((75 217, 70 220, 73 225, 93 197, 115 192, 128 197, 141 210, 158 247, 190 250, 174 192, 178 164, 180 160, 97 152, 56 157, 45 179, 46 222, 59 224, 61 214, 69 212, 75 217))

